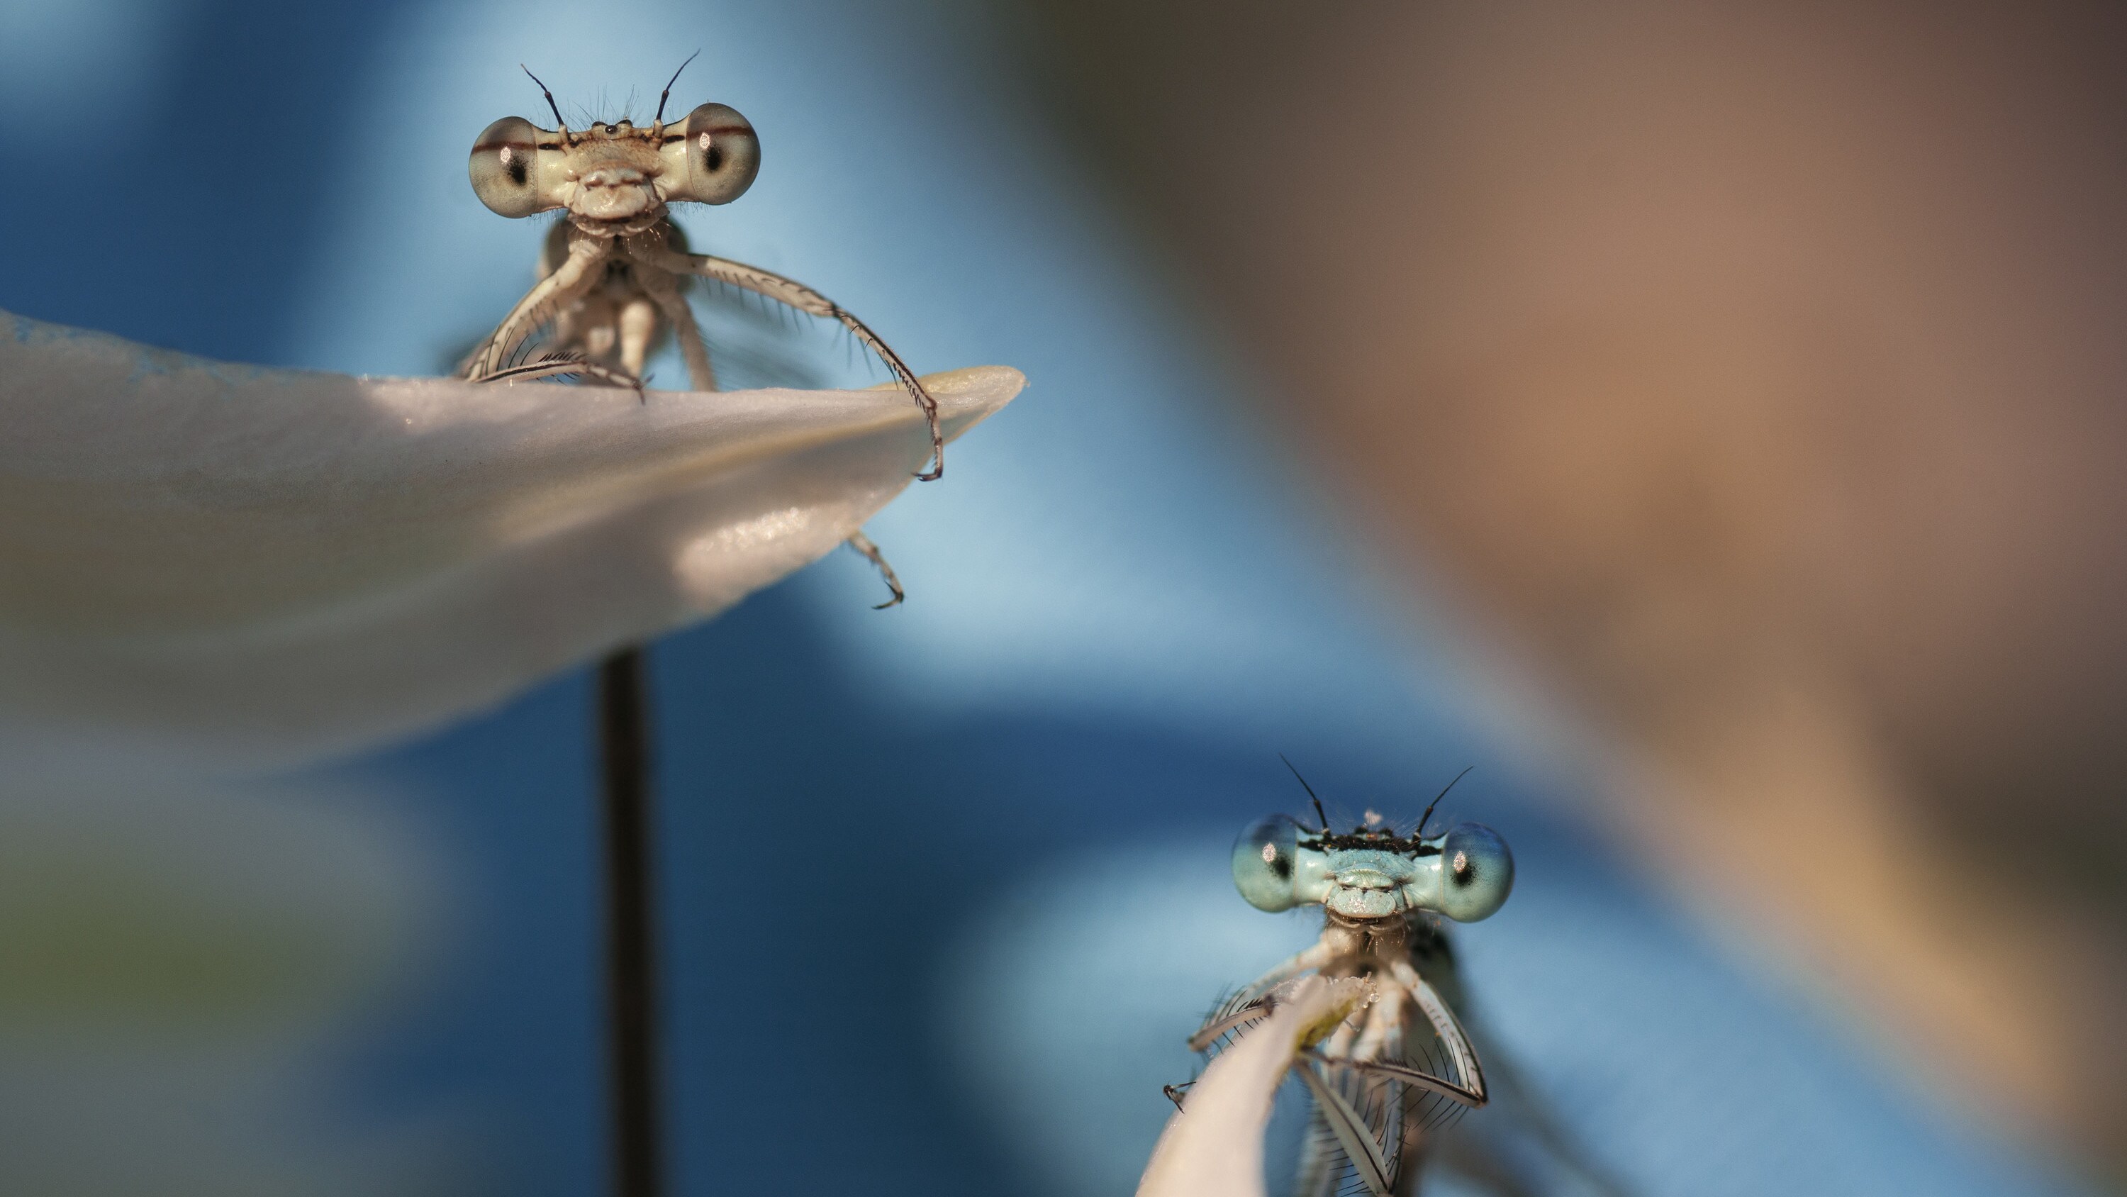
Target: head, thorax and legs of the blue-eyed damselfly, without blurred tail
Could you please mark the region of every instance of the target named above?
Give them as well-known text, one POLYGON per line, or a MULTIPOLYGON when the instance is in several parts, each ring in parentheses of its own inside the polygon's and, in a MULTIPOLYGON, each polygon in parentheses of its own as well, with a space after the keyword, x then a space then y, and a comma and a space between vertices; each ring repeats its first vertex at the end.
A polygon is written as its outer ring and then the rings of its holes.
POLYGON ((1478 823, 1427 836, 1434 806, 1408 836, 1372 812, 1338 833, 1317 799, 1319 827, 1272 814, 1234 844, 1234 884, 1251 906, 1319 904, 1323 931, 1223 1001, 1189 1046, 1227 1046, 1270 1014, 1280 987, 1308 972, 1370 987, 1366 1001, 1293 1065, 1314 1099, 1297 1197, 1414 1193, 1429 1131, 1489 1099, 1470 1035, 1436 984, 1446 980, 1455 993, 1440 916, 1474 923, 1500 910, 1514 889, 1514 857, 1478 823))

